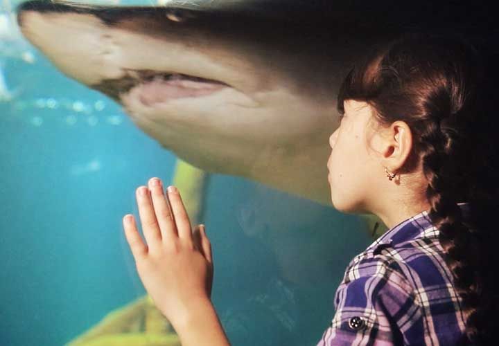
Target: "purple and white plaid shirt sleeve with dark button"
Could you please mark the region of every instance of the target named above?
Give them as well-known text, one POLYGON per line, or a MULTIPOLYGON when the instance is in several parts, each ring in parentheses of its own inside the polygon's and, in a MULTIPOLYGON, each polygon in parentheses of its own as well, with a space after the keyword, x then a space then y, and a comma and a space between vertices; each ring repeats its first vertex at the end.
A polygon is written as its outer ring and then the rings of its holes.
POLYGON ((421 321, 416 292, 408 280, 380 260, 347 271, 335 305, 335 316, 317 346, 410 344, 405 331, 421 321))

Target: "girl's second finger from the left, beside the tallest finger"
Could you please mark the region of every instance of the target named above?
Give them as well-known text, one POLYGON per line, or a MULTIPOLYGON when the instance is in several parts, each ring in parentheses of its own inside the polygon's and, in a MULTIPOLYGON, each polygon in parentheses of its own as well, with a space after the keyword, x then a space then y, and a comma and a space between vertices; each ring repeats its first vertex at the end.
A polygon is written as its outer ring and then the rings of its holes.
POLYGON ((152 251, 161 244, 161 233, 157 223, 156 214, 152 208, 149 189, 141 186, 137 189, 137 205, 142 224, 142 231, 146 242, 152 251))

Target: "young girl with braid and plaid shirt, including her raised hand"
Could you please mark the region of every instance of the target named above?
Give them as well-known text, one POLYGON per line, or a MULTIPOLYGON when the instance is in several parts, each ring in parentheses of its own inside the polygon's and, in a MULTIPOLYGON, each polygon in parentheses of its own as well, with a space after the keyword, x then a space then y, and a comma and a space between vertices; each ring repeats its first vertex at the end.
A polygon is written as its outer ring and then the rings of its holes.
MULTIPOLYGON (((464 39, 409 34, 344 80, 331 201, 389 230, 350 262, 318 345, 493 344, 498 161, 483 66, 464 39)), ((210 300, 204 226, 191 230, 180 194, 169 187, 165 198, 159 179, 137 190, 137 203, 147 245, 132 215, 123 226, 155 304, 182 345, 229 345, 210 300)))

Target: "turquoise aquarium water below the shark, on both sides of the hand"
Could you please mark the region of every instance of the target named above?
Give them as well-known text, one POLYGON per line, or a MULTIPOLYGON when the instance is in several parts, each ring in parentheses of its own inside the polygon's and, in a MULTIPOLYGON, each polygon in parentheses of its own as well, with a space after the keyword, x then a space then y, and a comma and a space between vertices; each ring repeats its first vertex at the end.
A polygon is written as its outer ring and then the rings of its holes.
MULTIPOLYGON (((13 93, 0 102, 0 344, 64 345, 145 294, 121 218, 138 219, 135 189, 171 183, 176 158, 18 44, 0 46, 13 93)), ((362 220, 235 176, 209 175, 206 194, 213 304, 233 345, 315 345, 372 242, 362 220)))

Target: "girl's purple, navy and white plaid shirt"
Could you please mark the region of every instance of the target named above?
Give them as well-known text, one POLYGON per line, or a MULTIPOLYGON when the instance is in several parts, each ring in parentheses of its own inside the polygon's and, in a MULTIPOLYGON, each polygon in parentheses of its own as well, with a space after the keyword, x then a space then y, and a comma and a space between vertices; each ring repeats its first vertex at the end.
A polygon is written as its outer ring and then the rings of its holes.
MULTIPOLYGON (((457 203, 464 217, 469 203, 457 203)), ((457 345, 462 300, 425 210, 387 230, 350 262, 335 316, 317 346, 457 345)))

